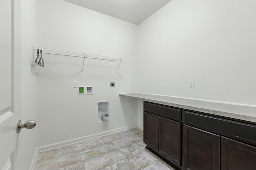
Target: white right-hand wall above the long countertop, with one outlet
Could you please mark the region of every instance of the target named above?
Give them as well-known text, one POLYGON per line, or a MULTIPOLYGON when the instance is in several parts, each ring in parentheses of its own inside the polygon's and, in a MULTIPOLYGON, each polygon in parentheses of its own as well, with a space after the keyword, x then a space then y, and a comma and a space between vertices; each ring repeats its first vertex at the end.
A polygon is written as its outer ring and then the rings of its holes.
POLYGON ((253 0, 169 2, 139 25, 138 91, 256 105, 255 9, 253 0))

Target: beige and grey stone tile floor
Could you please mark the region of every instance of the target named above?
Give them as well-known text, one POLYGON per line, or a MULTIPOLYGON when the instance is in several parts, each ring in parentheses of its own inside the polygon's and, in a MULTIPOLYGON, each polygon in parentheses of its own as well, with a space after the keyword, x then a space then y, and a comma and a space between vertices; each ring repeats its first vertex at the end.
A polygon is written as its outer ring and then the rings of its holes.
POLYGON ((174 170, 145 149, 139 128, 44 152, 34 170, 174 170))

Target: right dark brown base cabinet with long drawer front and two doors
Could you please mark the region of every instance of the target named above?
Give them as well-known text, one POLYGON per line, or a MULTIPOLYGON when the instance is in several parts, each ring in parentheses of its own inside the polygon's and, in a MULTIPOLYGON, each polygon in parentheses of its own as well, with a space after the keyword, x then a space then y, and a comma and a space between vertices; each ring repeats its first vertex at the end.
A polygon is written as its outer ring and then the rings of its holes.
POLYGON ((184 123, 185 170, 256 170, 256 125, 191 111, 184 123))

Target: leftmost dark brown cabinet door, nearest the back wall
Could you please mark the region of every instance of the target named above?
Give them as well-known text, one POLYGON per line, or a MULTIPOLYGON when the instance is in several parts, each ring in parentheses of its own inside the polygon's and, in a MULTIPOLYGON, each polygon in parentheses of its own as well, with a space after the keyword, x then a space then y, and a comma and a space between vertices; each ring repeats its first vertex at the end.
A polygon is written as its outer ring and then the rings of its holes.
POLYGON ((158 152, 159 116, 144 112, 144 143, 152 151, 158 152))

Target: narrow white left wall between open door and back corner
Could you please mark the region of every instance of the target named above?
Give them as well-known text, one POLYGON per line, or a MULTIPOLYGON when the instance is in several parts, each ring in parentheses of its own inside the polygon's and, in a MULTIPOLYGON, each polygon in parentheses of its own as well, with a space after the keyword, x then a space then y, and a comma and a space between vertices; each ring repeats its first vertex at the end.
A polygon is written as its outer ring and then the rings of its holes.
MULTIPOLYGON (((36 45, 36 0, 21 2, 21 120, 37 119, 37 78, 32 46, 36 45)), ((16 168, 28 170, 37 147, 37 130, 23 129, 19 133, 19 149, 16 168)))

